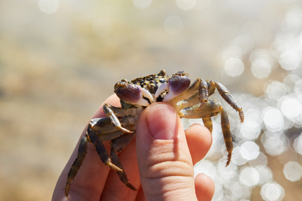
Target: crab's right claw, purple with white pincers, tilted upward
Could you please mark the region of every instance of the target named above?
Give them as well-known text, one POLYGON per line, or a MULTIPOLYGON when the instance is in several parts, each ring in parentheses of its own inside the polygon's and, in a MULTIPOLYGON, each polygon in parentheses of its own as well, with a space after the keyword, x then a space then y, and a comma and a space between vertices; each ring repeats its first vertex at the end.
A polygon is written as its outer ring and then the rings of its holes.
POLYGON ((157 99, 157 97, 162 93, 168 92, 162 100, 163 102, 167 102, 186 91, 190 85, 190 82, 189 74, 187 72, 178 71, 167 79, 165 83, 158 87, 155 92, 155 99, 157 99))

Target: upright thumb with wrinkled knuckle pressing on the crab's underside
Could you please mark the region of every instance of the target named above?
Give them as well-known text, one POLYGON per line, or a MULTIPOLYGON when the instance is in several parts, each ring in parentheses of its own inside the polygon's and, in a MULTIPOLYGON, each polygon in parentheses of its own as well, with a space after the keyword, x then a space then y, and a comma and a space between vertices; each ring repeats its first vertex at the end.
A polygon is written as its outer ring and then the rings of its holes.
POLYGON ((153 103, 143 111, 136 152, 147 201, 197 201, 185 132, 171 105, 153 103))

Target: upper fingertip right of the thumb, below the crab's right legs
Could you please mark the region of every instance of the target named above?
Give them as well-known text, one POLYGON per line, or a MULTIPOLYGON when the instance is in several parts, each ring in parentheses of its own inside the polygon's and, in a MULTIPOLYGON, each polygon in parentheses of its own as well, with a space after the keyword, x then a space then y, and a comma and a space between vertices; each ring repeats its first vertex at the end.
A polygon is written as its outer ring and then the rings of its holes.
POLYGON ((195 165, 208 153, 212 144, 212 134, 206 127, 200 124, 191 125, 185 131, 185 134, 192 162, 195 165))

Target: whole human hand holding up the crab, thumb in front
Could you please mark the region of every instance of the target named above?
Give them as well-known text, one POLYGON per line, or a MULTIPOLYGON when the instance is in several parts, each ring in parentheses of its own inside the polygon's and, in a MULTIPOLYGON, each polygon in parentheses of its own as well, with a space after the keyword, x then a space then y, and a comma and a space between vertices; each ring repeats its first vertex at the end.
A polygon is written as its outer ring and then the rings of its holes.
MULTIPOLYGON (((104 103, 120 106, 113 95, 104 103)), ((103 103, 103 104, 104 104, 103 103)), ((92 118, 106 117, 99 107, 92 118)), ((79 137, 86 133, 86 128, 79 137)), ((184 131, 174 109, 163 102, 148 106, 140 116, 136 139, 118 154, 129 182, 127 188, 116 172, 105 166, 93 144, 88 143, 86 158, 69 192, 71 201, 211 201, 215 186, 211 178, 198 174, 193 165, 208 152, 211 133, 199 124, 184 131)), ((109 150, 109 142, 104 145, 109 150)), ((53 192, 53 201, 67 201, 64 195, 67 174, 76 159, 78 144, 63 169, 53 192)))

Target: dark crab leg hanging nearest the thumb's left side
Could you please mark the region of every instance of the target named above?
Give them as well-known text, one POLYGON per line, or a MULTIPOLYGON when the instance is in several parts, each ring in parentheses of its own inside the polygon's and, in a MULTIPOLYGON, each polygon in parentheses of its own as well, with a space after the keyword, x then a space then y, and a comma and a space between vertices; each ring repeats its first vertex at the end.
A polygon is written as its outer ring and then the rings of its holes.
MULTIPOLYGON (((121 162, 118 158, 118 156, 116 155, 116 153, 121 152, 133 139, 135 134, 124 134, 116 139, 113 139, 111 141, 111 151, 110 151, 110 155, 111 155, 111 159, 113 161, 113 164, 116 165, 117 167, 120 167, 121 169, 124 169, 121 165, 121 162)), ((122 172, 116 172, 118 177, 120 178, 120 180, 130 189, 136 191, 137 189, 130 184, 127 178, 127 175, 125 173, 125 171, 122 172)))

